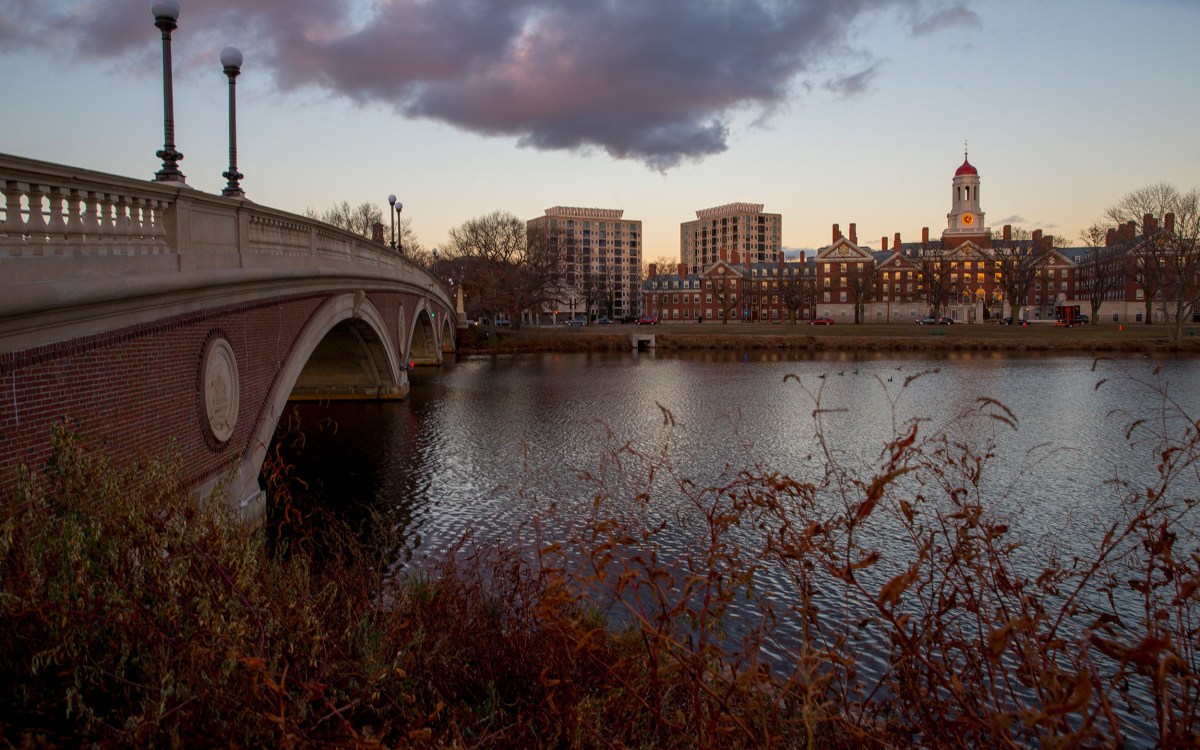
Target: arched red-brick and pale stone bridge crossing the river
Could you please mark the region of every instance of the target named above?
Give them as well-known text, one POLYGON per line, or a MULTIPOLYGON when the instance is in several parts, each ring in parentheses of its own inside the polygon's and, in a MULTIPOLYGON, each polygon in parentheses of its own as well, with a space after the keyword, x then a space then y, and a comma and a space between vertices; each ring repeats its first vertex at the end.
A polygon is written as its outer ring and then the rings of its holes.
POLYGON ((454 347, 440 283, 322 222, 4 154, 0 188, 0 502, 65 421, 257 517, 288 400, 403 398, 454 347))

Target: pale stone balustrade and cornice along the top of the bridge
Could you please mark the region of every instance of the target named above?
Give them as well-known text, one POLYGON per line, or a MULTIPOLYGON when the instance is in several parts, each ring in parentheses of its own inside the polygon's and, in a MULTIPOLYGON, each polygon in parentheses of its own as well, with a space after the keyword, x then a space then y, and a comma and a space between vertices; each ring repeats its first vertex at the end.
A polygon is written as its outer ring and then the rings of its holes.
POLYGON ((324 288, 449 293, 395 250, 186 185, 0 154, 0 352, 324 288), (103 323, 101 323, 103 318, 103 323))

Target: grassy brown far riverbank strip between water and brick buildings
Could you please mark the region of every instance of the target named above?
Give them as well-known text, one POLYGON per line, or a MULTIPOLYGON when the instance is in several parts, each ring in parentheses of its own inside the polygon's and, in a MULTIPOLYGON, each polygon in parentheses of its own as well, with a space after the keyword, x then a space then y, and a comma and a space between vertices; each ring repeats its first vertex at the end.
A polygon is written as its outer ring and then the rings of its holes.
POLYGON ((656 350, 784 349, 866 352, 1062 352, 1200 354, 1200 325, 1171 342, 1163 325, 722 325, 666 324, 458 331, 460 354, 625 352, 632 335, 654 336, 656 350))

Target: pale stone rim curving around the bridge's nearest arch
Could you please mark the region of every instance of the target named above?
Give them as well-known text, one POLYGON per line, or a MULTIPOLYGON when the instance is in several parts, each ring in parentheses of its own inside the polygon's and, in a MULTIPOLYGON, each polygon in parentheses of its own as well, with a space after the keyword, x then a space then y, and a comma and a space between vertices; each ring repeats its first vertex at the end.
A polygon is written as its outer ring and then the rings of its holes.
POLYGON ((270 394, 257 415, 250 444, 233 470, 199 488, 206 497, 222 488, 236 503, 242 517, 258 520, 265 510, 265 494, 258 485, 275 428, 287 408, 293 389, 322 342, 337 329, 348 330, 364 342, 364 355, 380 377, 380 397, 402 398, 408 392, 408 373, 379 310, 361 293, 341 294, 322 304, 299 331, 275 376, 270 394))

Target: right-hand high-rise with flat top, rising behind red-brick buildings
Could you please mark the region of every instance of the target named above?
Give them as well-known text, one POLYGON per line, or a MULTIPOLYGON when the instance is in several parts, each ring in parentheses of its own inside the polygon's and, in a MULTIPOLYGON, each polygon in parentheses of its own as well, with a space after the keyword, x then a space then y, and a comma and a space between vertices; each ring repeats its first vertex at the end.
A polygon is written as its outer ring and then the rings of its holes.
POLYGON ((679 224, 679 260, 698 274, 737 253, 752 263, 770 263, 782 248, 784 217, 764 214, 761 203, 728 203, 696 211, 679 224))

